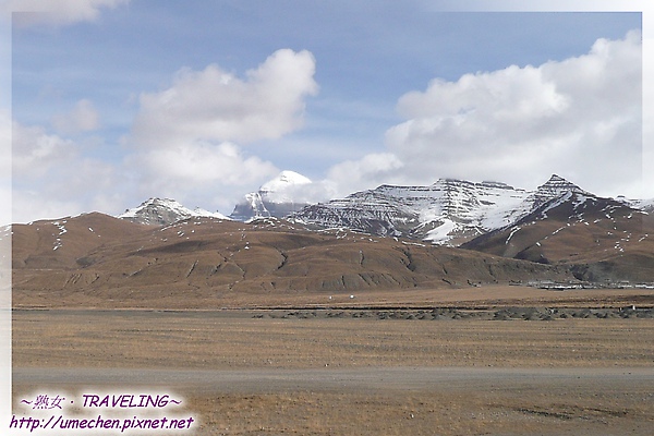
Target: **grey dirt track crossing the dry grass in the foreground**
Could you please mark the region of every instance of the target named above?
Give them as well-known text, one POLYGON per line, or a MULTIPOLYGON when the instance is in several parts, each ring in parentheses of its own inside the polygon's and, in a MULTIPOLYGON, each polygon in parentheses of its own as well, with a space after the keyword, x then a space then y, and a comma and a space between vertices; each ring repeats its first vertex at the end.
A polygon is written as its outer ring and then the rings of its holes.
MULTIPOLYGON (((324 370, 114 370, 16 368, 16 385, 145 386, 205 393, 288 390, 375 391, 491 389, 501 386, 562 388, 602 386, 611 391, 654 387, 654 368, 366 367, 324 370)), ((654 395, 654 391, 652 392, 654 395)), ((654 416, 653 416, 654 417, 654 416)))

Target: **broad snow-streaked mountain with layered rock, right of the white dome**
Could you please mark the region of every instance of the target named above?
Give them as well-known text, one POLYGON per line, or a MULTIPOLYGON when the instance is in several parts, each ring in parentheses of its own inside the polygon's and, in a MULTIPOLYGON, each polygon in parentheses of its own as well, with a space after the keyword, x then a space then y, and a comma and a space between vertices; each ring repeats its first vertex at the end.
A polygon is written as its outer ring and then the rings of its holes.
POLYGON ((440 179, 431 186, 382 185, 308 206, 293 218, 320 228, 350 228, 460 245, 510 227, 567 193, 592 196, 556 174, 529 192, 498 182, 440 179))

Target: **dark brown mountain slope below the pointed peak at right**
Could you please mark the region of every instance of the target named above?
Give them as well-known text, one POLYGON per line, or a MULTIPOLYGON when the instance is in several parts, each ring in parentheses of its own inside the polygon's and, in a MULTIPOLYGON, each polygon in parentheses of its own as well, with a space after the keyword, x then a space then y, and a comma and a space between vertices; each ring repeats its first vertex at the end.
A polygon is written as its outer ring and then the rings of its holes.
POLYGON ((573 264, 582 280, 654 281, 654 218, 579 191, 541 204, 464 249, 543 264, 573 264))

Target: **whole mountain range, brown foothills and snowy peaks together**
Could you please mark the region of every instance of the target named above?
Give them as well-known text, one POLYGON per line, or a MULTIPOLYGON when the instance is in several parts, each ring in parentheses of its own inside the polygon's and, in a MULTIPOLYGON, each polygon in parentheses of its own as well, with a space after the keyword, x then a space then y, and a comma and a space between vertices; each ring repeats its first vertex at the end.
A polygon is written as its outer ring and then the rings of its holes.
POLYGON ((288 186, 311 182, 284 175, 286 193, 265 185, 265 209, 252 208, 264 216, 246 221, 150 198, 119 217, 5 228, 14 301, 205 307, 298 292, 654 282, 651 201, 600 197, 553 175, 534 191, 449 179, 382 185, 293 211, 302 202, 288 186))

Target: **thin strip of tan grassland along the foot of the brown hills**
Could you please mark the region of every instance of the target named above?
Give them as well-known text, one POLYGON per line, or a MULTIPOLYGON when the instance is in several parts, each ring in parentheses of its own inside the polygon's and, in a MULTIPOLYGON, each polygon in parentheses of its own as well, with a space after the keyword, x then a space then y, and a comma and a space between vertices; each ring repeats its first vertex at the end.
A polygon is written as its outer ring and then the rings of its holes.
POLYGON ((208 291, 157 292, 147 288, 95 294, 71 290, 13 290, 15 308, 159 308, 220 310, 269 307, 480 307, 507 305, 620 307, 654 306, 654 289, 581 289, 554 291, 524 286, 485 284, 473 288, 409 288, 331 291, 208 291), (153 296, 153 295, 156 295, 153 296))

